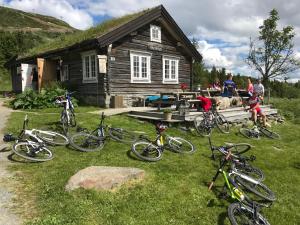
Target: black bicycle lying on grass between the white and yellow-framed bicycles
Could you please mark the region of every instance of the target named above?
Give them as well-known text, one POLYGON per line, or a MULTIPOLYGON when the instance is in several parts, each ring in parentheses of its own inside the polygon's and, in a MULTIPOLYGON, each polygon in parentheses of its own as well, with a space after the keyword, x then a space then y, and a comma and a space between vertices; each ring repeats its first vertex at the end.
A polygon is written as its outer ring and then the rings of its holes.
MULTIPOLYGON (((106 130, 109 137, 115 141, 123 143, 133 143, 137 137, 134 133, 129 132, 123 128, 110 127, 104 125, 104 113, 101 114, 100 124, 98 127, 89 132, 87 129, 81 129, 79 133, 74 134, 70 138, 70 144, 75 149, 83 152, 93 152, 101 150, 107 139, 106 130)), ((79 129, 80 130, 80 129, 79 129)))

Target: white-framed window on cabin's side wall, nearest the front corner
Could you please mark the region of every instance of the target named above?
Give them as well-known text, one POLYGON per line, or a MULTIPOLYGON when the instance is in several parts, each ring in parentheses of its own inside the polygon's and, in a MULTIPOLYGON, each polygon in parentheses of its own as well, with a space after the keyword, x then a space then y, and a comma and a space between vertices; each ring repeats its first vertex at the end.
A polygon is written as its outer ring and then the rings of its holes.
POLYGON ((97 60, 95 51, 84 52, 82 57, 83 83, 97 82, 97 60))

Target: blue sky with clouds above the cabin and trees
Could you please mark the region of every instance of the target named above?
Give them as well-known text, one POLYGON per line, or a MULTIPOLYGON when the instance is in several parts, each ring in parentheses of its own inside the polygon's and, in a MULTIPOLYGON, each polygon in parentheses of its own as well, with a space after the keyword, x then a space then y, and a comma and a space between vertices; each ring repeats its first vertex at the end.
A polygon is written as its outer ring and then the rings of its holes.
MULTIPOLYGON (((189 38, 196 38, 207 67, 257 76, 244 58, 249 38, 275 8, 279 27, 292 25, 295 54, 300 58, 299 0, 0 0, 0 4, 28 12, 61 18, 78 29, 87 29, 105 19, 163 4, 189 38)), ((300 79, 300 72, 289 75, 300 79)))

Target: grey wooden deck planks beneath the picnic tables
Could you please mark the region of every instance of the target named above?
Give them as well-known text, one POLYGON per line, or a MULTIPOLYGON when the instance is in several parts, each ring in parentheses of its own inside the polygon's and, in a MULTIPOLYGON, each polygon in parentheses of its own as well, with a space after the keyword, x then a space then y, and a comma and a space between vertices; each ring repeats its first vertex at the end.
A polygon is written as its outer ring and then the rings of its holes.
MULTIPOLYGON (((274 115, 278 113, 277 109, 272 108, 270 105, 263 105, 261 108, 266 115, 274 115)), ((241 122, 251 117, 251 113, 245 112, 243 107, 234 107, 225 110, 219 110, 218 112, 223 114, 229 122, 241 122)), ((175 111, 173 112, 172 120, 166 122, 178 123, 184 121, 193 121, 194 117, 198 115, 202 115, 202 112, 191 111, 189 115, 180 116, 179 113, 175 111)), ((165 121, 163 112, 158 112, 157 110, 153 109, 143 112, 133 110, 128 113, 128 116, 139 119, 165 121)))

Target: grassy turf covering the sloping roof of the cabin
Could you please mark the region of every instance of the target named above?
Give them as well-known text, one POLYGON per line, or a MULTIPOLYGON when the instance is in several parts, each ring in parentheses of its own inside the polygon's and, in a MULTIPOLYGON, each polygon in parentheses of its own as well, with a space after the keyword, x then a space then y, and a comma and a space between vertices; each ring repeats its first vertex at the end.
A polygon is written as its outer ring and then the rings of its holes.
POLYGON ((86 41, 86 40, 92 40, 95 38, 99 38, 102 35, 111 32, 112 30, 128 23, 131 20, 136 19, 137 17, 149 12, 151 9, 146 9, 137 13, 128 14, 119 18, 113 18, 110 20, 107 20, 95 27, 91 27, 88 30, 85 31, 77 31, 72 34, 66 34, 62 35, 56 39, 53 39, 49 42, 46 42, 44 44, 41 44, 33 49, 31 49, 29 52, 25 53, 24 55, 20 55, 19 58, 23 57, 30 57, 34 55, 39 55, 45 52, 49 52, 52 50, 59 50, 66 47, 70 47, 72 45, 78 44, 80 42, 86 41))

